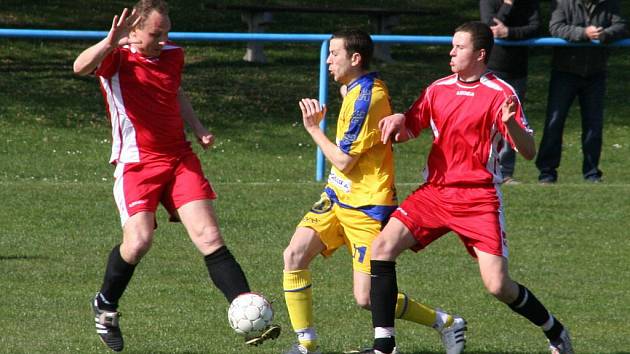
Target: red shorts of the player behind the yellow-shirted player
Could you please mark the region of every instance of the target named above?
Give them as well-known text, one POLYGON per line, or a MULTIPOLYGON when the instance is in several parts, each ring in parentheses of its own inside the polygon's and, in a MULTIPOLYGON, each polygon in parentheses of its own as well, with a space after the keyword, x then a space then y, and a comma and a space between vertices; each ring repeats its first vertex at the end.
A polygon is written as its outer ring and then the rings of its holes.
POLYGON ((473 248, 507 258, 501 192, 495 187, 441 187, 424 184, 392 214, 411 232, 419 251, 449 231, 471 256, 473 248))

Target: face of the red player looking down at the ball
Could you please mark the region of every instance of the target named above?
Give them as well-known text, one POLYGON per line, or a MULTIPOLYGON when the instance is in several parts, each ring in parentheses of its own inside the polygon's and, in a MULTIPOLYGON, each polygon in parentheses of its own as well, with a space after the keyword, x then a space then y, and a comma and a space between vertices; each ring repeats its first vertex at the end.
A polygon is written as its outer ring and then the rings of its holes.
POLYGON ((130 36, 139 39, 142 43, 134 44, 134 47, 147 57, 157 57, 162 52, 162 47, 168 39, 168 31, 171 30, 171 20, 166 15, 157 11, 151 12, 142 28, 131 31, 130 36))

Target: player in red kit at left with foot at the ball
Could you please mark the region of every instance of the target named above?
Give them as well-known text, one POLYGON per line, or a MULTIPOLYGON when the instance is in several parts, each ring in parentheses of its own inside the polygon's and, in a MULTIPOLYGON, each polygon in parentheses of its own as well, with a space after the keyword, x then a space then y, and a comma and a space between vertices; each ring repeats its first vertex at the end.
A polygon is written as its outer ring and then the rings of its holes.
MULTIPOLYGON (((99 43, 74 62, 78 75, 96 75, 112 126, 110 162, 116 166, 114 199, 122 243, 110 252, 101 289, 92 301, 96 333, 112 350, 124 346, 118 301, 136 265, 149 251, 155 212, 162 204, 181 221, 201 252, 210 278, 231 302, 250 288, 240 265, 223 242, 211 201, 216 198, 184 133, 184 122, 204 149, 214 136, 197 119, 181 88, 184 51, 168 42, 171 22, 163 0, 140 0, 125 9, 99 43)), ((278 326, 260 344, 278 336, 278 326)))

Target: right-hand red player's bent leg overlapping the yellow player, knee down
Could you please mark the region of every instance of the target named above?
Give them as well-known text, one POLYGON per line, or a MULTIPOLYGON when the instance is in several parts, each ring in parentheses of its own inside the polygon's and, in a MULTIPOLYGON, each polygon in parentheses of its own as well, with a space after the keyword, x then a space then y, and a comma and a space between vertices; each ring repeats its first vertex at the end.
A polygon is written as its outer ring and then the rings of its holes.
POLYGON ((396 258, 416 244, 407 227, 398 219, 391 218, 385 229, 372 243, 371 290, 374 349, 391 353, 396 346, 394 319, 398 285, 396 283, 396 258))

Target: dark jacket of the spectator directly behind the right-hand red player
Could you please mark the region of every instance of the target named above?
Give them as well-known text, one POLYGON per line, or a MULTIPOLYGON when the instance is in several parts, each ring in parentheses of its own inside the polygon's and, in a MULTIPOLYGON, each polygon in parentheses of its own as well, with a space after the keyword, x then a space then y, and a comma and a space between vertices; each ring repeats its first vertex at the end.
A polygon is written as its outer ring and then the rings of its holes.
MULTIPOLYGON (((540 10, 538 0, 514 0, 508 5, 503 0, 480 0, 481 22, 494 26, 493 18, 508 27, 507 40, 522 40, 538 35, 540 10)), ((488 68, 501 78, 516 79, 527 76, 529 47, 495 45, 490 54, 488 68)))

